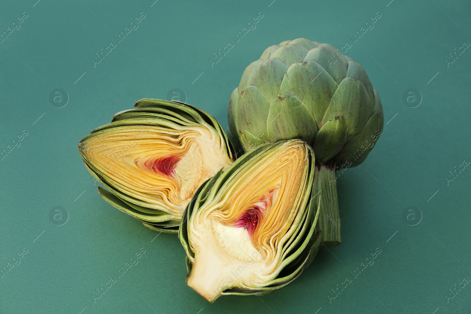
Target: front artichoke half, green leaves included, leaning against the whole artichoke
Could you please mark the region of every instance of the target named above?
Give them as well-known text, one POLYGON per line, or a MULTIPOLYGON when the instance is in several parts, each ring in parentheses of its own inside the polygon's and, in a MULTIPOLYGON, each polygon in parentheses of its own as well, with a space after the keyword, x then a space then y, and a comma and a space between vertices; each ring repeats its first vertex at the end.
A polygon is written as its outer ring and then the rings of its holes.
POLYGON ((312 148, 264 144, 200 186, 182 218, 187 284, 208 301, 292 282, 321 242, 312 148))

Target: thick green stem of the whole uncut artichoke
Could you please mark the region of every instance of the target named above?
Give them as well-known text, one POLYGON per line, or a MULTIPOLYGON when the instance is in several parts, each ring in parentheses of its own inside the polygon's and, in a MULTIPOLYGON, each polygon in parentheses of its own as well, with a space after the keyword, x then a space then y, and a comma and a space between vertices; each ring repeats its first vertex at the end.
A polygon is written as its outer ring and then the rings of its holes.
POLYGON ((320 198, 317 224, 318 228, 322 231, 321 245, 325 247, 336 246, 342 241, 335 165, 333 167, 325 165, 317 166, 316 177, 313 194, 318 194, 316 197, 318 204, 320 198))

